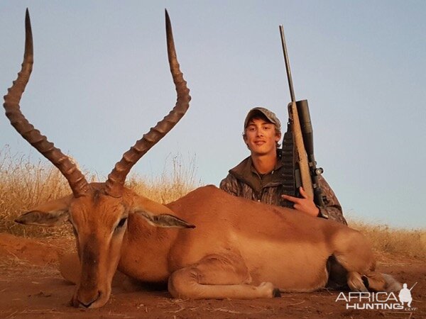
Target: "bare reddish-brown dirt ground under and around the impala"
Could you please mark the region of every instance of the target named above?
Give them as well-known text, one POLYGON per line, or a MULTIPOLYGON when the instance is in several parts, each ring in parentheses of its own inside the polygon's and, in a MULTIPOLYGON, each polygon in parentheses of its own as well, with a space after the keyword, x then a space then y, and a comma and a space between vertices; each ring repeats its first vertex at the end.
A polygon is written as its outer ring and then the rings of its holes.
MULTIPOLYGON (((285 293, 280 298, 190 301, 171 298, 161 287, 116 276, 111 298, 100 309, 72 308, 74 286, 58 272, 58 256, 72 240, 33 240, 0 233, 0 318, 426 318, 426 267, 416 260, 381 257, 382 272, 411 291, 410 310, 346 309, 339 291, 285 293)), ((397 293, 398 295, 398 293, 397 293)), ((347 296, 347 292, 346 292, 347 296)))

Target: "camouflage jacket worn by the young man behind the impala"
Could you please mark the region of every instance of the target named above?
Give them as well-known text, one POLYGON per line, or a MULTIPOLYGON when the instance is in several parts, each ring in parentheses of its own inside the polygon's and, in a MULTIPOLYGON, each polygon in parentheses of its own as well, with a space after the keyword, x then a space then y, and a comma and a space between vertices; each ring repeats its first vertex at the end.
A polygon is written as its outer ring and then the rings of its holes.
MULTIPOLYGON (((282 169, 283 164, 278 160, 271 173, 260 175, 253 167, 251 157, 247 157, 229 171, 228 176, 220 182, 219 187, 234 196, 249 198, 253 201, 261 201, 271 205, 293 207, 293 203, 281 198, 281 194, 283 194, 282 169)), ((318 177, 318 184, 320 184, 322 193, 325 196, 325 207, 319 207, 320 216, 347 225, 343 217, 342 206, 340 206, 334 191, 332 191, 327 181, 320 176, 318 177)))

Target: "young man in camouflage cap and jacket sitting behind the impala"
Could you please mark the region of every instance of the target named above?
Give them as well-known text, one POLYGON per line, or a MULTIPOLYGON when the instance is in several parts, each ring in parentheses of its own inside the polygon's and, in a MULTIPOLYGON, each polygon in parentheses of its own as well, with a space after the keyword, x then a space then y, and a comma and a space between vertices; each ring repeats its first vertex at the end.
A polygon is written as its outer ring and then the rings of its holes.
POLYGON ((229 171, 220 183, 227 193, 277 206, 295 208, 312 217, 329 218, 347 225, 342 207, 327 181, 318 177, 318 184, 325 196, 325 207, 315 205, 300 187, 302 198, 283 195, 283 163, 278 149, 281 139, 281 123, 266 108, 252 108, 244 121, 244 142, 251 155, 229 171))

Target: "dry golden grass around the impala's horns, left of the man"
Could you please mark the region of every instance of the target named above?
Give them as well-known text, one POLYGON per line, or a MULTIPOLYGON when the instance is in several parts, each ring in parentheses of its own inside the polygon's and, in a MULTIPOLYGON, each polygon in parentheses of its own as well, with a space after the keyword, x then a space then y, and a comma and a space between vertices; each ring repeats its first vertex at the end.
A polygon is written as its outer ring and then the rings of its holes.
MULTIPOLYGON (((84 170, 83 173, 88 181, 97 180, 97 177, 90 176, 84 170)), ((160 177, 131 175, 127 186, 154 201, 169 203, 200 186, 195 176, 195 157, 187 164, 182 155, 176 155, 166 159, 160 177), (171 170, 167 169, 168 166, 171 170)), ((0 150, 0 232, 32 237, 72 237, 72 229, 68 224, 44 228, 13 222, 40 203, 67 194, 70 194, 67 180, 50 162, 38 160, 34 164, 31 156, 13 154, 9 147, 0 150)))

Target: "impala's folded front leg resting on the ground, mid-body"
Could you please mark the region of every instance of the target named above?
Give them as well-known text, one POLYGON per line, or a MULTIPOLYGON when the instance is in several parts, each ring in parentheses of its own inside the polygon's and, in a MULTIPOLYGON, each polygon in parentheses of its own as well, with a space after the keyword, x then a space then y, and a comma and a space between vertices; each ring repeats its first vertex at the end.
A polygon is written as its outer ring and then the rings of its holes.
POLYGON ((249 270, 241 257, 210 254, 197 264, 173 272, 168 290, 174 298, 190 299, 254 299, 277 295, 271 283, 253 286, 250 282, 249 270))

